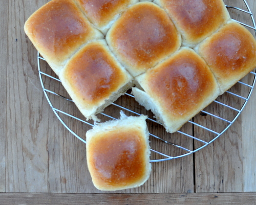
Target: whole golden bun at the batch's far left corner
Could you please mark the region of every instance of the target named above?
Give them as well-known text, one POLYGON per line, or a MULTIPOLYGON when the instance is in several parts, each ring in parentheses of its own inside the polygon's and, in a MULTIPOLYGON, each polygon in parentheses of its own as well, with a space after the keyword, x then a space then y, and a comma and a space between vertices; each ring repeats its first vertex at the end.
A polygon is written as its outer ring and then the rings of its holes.
POLYGON ((25 32, 57 75, 82 44, 104 37, 70 0, 42 6, 26 21, 25 32))

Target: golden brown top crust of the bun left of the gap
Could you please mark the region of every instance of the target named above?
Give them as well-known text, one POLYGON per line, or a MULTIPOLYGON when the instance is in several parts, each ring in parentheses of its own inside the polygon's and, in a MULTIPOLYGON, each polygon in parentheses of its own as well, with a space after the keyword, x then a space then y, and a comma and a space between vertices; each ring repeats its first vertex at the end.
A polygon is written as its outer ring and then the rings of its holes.
POLYGON ((98 41, 75 54, 61 73, 61 79, 69 84, 80 104, 88 107, 107 99, 127 82, 126 73, 98 41))

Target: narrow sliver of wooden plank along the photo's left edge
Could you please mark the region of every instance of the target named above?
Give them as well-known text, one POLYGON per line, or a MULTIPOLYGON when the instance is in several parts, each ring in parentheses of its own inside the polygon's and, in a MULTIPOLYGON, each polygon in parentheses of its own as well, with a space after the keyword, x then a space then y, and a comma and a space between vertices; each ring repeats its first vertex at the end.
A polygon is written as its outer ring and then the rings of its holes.
POLYGON ((0 192, 6 191, 6 78, 7 78, 7 42, 8 42, 8 7, 9 1, 2 3, 0 13, 3 15, 0 22, 0 192))

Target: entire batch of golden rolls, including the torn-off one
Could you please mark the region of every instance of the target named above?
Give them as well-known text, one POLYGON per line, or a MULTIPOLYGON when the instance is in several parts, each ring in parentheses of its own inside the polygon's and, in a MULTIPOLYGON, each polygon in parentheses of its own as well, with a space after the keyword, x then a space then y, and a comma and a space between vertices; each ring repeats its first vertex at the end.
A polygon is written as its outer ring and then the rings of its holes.
MULTIPOLYGON (((52 0, 25 32, 84 117, 132 88, 167 132, 177 131, 256 66, 256 41, 222 0, 52 0)), ((150 177, 146 116, 96 123, 87 160, 100 190, 150 177)))

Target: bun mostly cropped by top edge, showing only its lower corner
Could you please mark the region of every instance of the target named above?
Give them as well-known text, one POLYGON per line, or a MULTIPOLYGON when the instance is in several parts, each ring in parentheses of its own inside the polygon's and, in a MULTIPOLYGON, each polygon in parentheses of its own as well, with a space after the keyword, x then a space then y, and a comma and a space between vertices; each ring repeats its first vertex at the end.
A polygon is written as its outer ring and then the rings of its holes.
POLYGON ((121 12, 138 0, 77 0, 77 2, 88 19, 106 34, 121 12))

